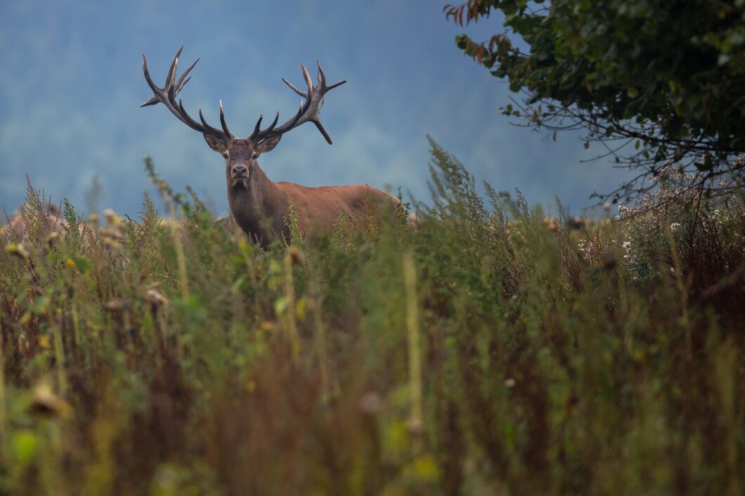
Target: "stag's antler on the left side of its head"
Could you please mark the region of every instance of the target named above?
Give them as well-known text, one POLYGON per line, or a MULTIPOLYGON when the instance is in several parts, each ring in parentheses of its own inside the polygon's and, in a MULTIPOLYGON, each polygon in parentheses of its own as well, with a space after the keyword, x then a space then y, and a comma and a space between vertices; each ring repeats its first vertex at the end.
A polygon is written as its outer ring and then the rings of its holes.
POLYGON ((184 110, 184 106, 181 103, 181 98, 179 98, 178 104, 176 103, 177 95, 179 94, 181 89, 183 89, 186 83, 188 83, 188 80, 191 79, 191 77, 186 77, 186 75, 189 73, 189 71, 191 71, 191 69, 194 69, 194 66, 197 65, 197 62, 199 62, 199 59, 194 60, 194 63, 192 63, 191 66, 188 66, 188 69, 186 69, 186 71, 181 74, 181 77, 179 77, 179 80, 176 81, 176 70, 179 65, 179 56, 183 48, 183 45, 181 45, 179 51, 176 52, 176 57, 174 57, 174 61, 171 62, 171 69, 168 69, 168 76, 165 78, 165 86, 163 86, 162 88, 156 86, 155 83, 153 83, 153 80, 150 79, 150 72, 148 71, 148 61, 145 59, 145 54, 142 54, 142 71, 145 73, 145 80, 148 81, 150 89, 153 90, 153 98, 150 98, 150 100, 146 101, 140 106, 155 105, 161 102, 162 104, 167 106, 168 110, 176 115, 176 117, 180 121, 182 121, 188 127, 191 127, 191 129, 197 130, 200 133, 211 134, 212 136, 220 139, 223 143, 227 143, 231 139, 235 138, 235 136, 232 136, 232 133, 230 133, 227 124, 225 123, 225 112, 223 111, 222 101, 220 102, 220 124, 222 125, 222 130, 219 130, 218 128, 212 127, 207 124, 207 122, 204 120, 204 116, 202 115, 201 105, 199 106, 199 119, 200 121, 202 121, 202 123, 200 124, 197 121, 194 121, 194 119, 191 118, 188 113, 186 113, 186 110, 184 110))

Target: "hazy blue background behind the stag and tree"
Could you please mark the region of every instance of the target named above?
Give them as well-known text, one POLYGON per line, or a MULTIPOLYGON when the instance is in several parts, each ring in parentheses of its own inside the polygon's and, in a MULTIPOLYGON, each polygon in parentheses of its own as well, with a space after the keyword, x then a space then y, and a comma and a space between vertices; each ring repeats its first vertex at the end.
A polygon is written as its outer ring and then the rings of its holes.
MULTIPOLYGON (((451 0, 452 1, 452 0, 451 0)), ((218 101, 236 135, 259 114, 297 110, 300 62, 320 59, 327 77, 349 82, 326 98, 329 146, 314 126, 289 133, 262 156, 275 181, 304 185, 367 182, 408 200, 429 200, 426 135, 498 191, 519 188, 529 203, 557 195, 575 213, 593 191, 610 191, 628 173, 592 158, 577 136, 515 127, 498 115, 507 83, 465 57, 454 36, 487 39, 492 16, 460 28, 443 1, 11 1, 0 2, 0 208, 17 209, 25 175, 55 203, 67 197, 90 212, 86 191, 98 176, 98 210, 136 217, 153 192, 143 157, 178 191, 194 187, 215 214, 227 212, 223 160, 152 93, 142 53, 162 85, 180 45, 180 69, 200 62, 182 92, 196 117, 218 124, 218 101)), ((315 71, 311 70, 311 74, 315 71)), ((315 75, 314 75, 315 77, 315 75)), ((513 95, 514 96, 514 95, 513 95)), ((0 211, 1 212, 1 211, 0 211)))

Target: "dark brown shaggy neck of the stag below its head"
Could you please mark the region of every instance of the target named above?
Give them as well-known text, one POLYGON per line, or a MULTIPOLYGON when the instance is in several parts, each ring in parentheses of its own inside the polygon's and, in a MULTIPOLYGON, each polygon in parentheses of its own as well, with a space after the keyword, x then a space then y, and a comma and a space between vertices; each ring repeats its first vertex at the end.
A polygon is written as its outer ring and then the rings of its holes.
POLYGON ((276 233, 285 231, 288 197, 264 171, 253 167, 249 179, 235 183, 228 175, 228 203, 235 223, 266 249, 276 233))

